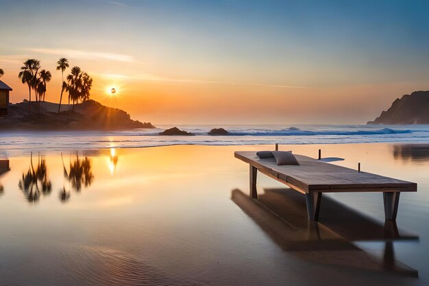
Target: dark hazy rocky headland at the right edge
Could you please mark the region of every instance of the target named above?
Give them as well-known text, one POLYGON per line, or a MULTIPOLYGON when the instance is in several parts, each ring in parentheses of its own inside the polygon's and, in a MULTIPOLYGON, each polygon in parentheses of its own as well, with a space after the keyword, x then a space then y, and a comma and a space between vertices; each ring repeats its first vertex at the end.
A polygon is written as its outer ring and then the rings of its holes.
POLYGON ((387 111, 367 124, 429 124, 429 91, 397 98, 387 111))

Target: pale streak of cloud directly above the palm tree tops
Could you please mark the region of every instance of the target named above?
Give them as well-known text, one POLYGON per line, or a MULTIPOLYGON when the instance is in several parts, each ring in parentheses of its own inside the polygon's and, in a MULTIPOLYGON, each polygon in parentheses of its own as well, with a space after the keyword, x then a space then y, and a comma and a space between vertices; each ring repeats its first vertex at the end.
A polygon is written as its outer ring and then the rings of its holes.
POLYGON ((81 51, 77 49, 23 49, 32 53, 66 56, 68 58, 81 58, 84 60, 114 60, 118 62, 134 62, 132 56, 118 53, 103 53, 99 51, 81 51))

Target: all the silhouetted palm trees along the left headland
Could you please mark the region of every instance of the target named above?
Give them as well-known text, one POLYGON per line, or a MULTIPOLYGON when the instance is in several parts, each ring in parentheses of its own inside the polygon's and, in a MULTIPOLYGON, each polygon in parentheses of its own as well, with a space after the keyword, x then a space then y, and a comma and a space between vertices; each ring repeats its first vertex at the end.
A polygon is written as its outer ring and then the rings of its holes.
MULTIPOLYGON (((62 95, 64 91, 69 93, 69 105, 73 103, 73 110, 75 104, 84 102, 90 97, 90 89, 93 86, 93 79, 80 69, 79 67, 73 67, 71 73, 66 76, 64 81, 64 71, 69 67, 69 60, 66 58, 60 58, 57 62, 57 71, 61 71, 62 75, 62 86, 60 95, 60 104, 58 106, 58 113, 60 113, 62 104, 62 95)), ((0 69, 0 77, 3 75, 3 69, 0 69)), ((47 91, 47 82, 51 81, 51 72, 42 69, 40 67, 40 60, 29 59, 23 62, 23 67, 18 74, 21 82, 28 86, 28 112, 31 113, 32 103, 32 91, 34 91, 36 97, 36 106, 40 111, 40 102, 45 102, 45 94, 47 91)))

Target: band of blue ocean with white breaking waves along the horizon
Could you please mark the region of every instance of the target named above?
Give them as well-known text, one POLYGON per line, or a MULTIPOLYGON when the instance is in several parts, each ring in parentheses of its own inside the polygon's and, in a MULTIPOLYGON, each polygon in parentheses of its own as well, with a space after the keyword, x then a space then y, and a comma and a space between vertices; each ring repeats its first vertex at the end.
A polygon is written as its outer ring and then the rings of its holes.
POLYGON ((177 126, 195 136, 160 136, 173 126, 113 132, 3 132, 0 157, 29 152, 99 150, 165 145, 266 145, 337 143, 429 143, 429 125, 258 125, 177 126), (225 128, 230 136, 209 136, 212 128, 225 128))

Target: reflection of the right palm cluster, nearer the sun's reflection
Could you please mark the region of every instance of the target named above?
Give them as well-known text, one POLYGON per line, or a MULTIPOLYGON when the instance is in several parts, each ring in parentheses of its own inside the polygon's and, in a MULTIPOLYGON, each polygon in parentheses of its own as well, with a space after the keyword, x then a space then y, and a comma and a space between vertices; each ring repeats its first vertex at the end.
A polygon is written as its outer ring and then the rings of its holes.
MULTIPOLYGON (((66 172, 64 174, 66 174, 66 172)), ((84 184, 84 187, 90 186, 94 180, 94 176, 93 171, 91 171, 90 160, 87 157, 81 159, 76 153, 76 159, 73 163, 70 163, 68 180, 71 182, 71 187, 75 189, 75 191, 80 191, 82 189, 82 184, 84 184)))

